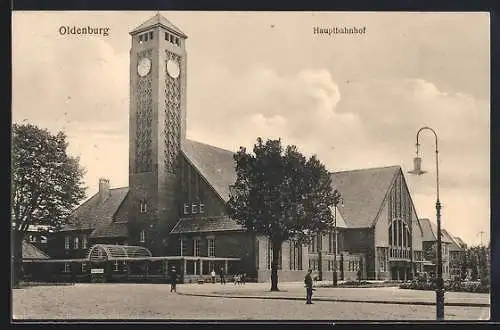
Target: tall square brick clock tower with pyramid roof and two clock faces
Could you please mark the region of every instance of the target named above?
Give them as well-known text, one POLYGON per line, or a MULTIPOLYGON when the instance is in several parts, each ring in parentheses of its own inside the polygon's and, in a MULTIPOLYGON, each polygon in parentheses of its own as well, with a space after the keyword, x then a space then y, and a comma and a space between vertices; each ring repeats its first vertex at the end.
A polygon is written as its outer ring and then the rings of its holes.
POLYGON ((187 36, 159 13, 130 32, 129 242, 161 255, 178 221, 187 36))

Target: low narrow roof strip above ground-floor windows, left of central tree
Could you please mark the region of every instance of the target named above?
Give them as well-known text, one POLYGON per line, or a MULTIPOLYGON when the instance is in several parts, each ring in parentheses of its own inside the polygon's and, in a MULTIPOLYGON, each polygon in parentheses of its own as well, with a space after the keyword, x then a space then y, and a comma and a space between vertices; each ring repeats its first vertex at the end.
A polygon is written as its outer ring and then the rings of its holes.
POLYGON ((244 230, 244 227, 228 216, 195 217, 179 220, 170 233, 181 234, 237 230, 244 230))

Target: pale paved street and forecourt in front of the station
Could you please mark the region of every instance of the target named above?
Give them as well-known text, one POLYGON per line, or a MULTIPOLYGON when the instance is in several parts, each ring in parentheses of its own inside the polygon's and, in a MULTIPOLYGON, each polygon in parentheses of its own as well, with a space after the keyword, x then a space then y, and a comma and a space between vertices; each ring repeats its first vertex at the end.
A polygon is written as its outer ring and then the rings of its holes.
MULTIPOLYGON (((301 300, 236 299, 234 290, 267 292, 268 283, 234 286, 227 284, 178 285, 179 294, 170 293, 164 284, 76 284, 37 286, 13 290, 14 319, 191 319, 191 320, 434 320, 435 307, 422 305, 375 304, 316 301, 305 305, 301 300), (227 297, 197 297, 184 294, 225 292, 227 297), (233 294, 231 294, 233 292, 233 294)), ((299 283, 280 285, 279 295, 298 293, 299 283)), ((303 288, 302 288, 303 289, 303 288)), ((317 296, 342 294, 344 297, 382 297, 411 295, 396 288, 327 289, 317 296), (377 291, 378 290, 378 291, 377 291), (396 291, 397 290, 397 291, 396 291)), ((421 292, 419 292, 421 294, 421 292)), ((418 294, 417 294, 418 295, 418 294)), ((451 293, 447 293, 451 295, 451 293)), ((431 292, 432 296, 432 292, 431 292)), ((447 297, 449 298, 449 297, 447 297)), ((449 320, 489 318, 489 307, 447 306, 449 320)))

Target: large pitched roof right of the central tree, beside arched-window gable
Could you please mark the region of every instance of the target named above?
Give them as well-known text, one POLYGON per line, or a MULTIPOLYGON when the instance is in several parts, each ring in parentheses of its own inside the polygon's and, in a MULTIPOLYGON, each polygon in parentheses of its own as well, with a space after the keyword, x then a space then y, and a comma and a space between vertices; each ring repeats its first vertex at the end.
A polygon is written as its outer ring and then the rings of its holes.
POLYGON ((400 166, 388 166, 331 173, 332 188, 340 191, 344 200, 344 207, 339 211, 347 227, 373 226, 400 169, 400 166))

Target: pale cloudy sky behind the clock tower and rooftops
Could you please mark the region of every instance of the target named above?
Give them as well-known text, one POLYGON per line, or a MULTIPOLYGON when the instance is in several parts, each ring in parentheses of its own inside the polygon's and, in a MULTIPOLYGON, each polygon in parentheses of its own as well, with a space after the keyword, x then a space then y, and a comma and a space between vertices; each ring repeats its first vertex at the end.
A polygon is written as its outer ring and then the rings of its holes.
MULTIPOLYGON (((63 130, 86 168, 128 185, 130 35, 155 15, 14 12, 14 123, 63 130), (61 26, 109 28, 61 35, 61 26)), ((187 138, 231 151, 281 138, 330 171, 400 165, 417 214, 468 244, 490 235, 488 13, 161 12, 188 35, 187 138), (365 28, 314 34, 314 28, 365 28), (480 232, 484 232, 483 235, 480 232)))

